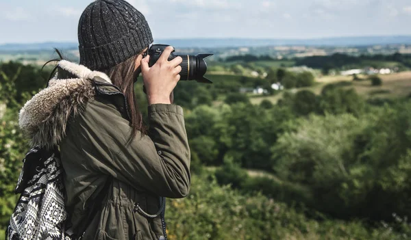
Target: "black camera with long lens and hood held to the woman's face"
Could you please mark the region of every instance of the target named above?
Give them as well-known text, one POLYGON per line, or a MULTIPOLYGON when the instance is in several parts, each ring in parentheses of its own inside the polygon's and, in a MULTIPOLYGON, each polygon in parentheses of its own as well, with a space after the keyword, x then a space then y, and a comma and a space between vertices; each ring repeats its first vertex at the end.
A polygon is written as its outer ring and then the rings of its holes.
MULTIPOLYGON (((153 44, 145 53, 145 56, 150 55, 149 66, 153 66, 157 62, 158 58, 169 45, 166 44, 153 44)), ((179 64, 182 67, 182 71, 179 73, 180 80, 195 80, 199 83, 212 83, 209 79, 204 77, 207 72, 207 63, 204 59, 212 56, 213 53, 199 53, 197 55, 175 55, 173 52, 169 56, 169 61, 175 57, 182 57, 183 62, 179 64)))

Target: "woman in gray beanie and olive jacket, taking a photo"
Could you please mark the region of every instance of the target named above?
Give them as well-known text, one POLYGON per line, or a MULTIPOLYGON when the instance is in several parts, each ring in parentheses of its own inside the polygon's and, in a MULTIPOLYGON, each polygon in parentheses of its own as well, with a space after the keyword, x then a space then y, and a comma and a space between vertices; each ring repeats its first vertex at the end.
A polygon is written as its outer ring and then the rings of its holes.
POLYGON ((49 87, 21 111, 32 145, 60 146, 69 224, 82 239, 166 239, 164 198, 190 188, 182 108, 172 105, 182 62, 169 47, 149 67, 145 17, 123 0, 98 0, 79 21, 80 65, 60 61, 49 87), (135 103, 142 79, 149 128, 135 103))

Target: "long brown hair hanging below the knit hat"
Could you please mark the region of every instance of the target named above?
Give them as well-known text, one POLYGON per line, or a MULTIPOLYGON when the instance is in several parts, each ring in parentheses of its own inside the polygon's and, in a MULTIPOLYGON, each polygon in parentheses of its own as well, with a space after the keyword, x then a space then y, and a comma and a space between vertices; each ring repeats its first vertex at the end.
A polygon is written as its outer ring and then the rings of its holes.
MULTIPOLYGON (((138 55, 140 55, 140 53, 138 55)), ((134 93, 134 79, 137 77, 137 72, 134 68, 138 55, 130 57, 124 62, 121 62, 108 70, 103 70, 103 72, 110 77, 112 83, 120 88, 127 101, 127 111, 129 111, 130 126, 132 127, 132 133, 127 144, 130 144, 134 140, 139 131, 142 135, 147 133, 147 129, 142 121, 142 115, 136 101, 136 95, 134 93)))

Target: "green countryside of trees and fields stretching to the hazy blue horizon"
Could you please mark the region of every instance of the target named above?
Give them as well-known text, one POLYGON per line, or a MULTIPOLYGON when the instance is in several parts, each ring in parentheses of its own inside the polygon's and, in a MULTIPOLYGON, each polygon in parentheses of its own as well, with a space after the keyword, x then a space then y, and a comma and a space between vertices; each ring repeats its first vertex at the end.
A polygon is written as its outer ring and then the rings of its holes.
MULTIPOLYGON (((162 40, 215 53, 212 84, 174 92, 192 187, 167 200, 169 239, 411 239, 411 38, 394 39, 162 40)), ((78 61, 71 43, 0 46, 0 239, 28 150, 18 111, 47 85, 53 46, 78 61)))

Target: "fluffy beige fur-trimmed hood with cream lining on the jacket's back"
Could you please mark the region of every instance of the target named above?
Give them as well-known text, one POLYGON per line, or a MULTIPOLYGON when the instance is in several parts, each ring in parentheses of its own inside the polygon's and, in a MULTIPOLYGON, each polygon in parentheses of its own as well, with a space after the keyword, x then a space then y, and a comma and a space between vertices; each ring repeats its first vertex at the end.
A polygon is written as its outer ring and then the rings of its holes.
POLYGON ((49 86, 27 101, 19 114, 18 124, 31 139, 32 146, 53 148, 60 144, 71 116, 77 115, 87 101, 94 98, 92 81, 96 77, 111 83, 103 72, 66 60, 58 62, 58 73, 49 81, 49 86), (74 77, 59 79, 63 72, 74 77))

